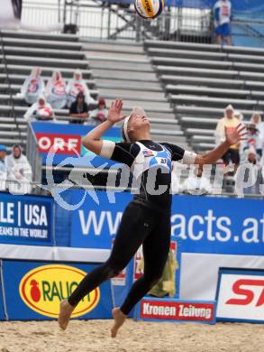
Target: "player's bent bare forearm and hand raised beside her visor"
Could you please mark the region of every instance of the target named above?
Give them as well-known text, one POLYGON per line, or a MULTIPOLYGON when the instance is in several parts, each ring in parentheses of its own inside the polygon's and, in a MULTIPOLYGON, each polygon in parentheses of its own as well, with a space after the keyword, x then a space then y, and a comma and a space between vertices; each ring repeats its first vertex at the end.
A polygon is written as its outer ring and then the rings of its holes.
POLYGON ((105 132, 111 128, 115 123, 123 120, 124 116, 121 114, 123 108, 123 101, 121 99, 115 99, 112 103, 107 120, 101 125, 97 125, 92 131, 90 131, 82 140, 82 144, 91 152, 99 155, 102 150, 103 141, 101 137, 105 132))

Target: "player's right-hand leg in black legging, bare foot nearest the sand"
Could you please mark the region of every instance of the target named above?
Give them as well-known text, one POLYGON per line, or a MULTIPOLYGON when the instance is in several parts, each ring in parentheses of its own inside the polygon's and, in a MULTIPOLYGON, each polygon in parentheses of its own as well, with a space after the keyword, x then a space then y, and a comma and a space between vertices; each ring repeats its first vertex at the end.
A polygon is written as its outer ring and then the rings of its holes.
POLYGON ((144 274, 133 283, 120 309, 114 310, 112 337, 116 336, 117 330, 123 325, 125 317, 134 305, 159 282, 162 276, 170 245, 170 214, 159 215, 159 218, 155 218, 155 223, 155 229, 143 242, 144 274))

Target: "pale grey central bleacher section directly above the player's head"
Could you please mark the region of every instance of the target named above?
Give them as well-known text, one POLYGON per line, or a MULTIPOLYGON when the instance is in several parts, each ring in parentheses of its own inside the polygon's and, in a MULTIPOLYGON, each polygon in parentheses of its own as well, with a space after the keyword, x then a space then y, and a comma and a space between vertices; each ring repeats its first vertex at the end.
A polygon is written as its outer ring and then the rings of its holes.
POLYGON ((98 95, 105 97, 108 105, 114 97, 123 97, 125 114, 132 107, 144 107, 155 140, 188 147, 168 97, 140 44, 84 42, 83 49, 96 80, 98 95))

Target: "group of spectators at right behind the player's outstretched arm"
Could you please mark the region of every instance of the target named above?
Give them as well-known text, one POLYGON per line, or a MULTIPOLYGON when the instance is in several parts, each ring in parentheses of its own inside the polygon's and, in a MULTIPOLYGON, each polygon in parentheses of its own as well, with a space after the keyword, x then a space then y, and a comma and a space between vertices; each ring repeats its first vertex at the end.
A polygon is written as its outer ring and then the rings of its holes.
MULTIPOLYGON (((242 164, 252 165, 245 174, 242 175, 244 181, 251 178, 248 187, 243 189, 243 194, 259 194, 260 185, 264 183, 264 122, 261 120, 259 113, 253 114, 250 121, 244 121, 240 111, 235 110, 232 105, 225 107, 223 117, 218 120, 215 128, 215 147, 222 144, 226 139, 226 134, 232 133, 237 125, 245 125, 247 134, 240 144, 231 145, 229 150, 223 154, 222 160, 219 161, 223 167, 228 167, 223 176, 223 188, 225 179, 232 176, 234 182, 237 181, 236 171, 242 164), (251 172, 251 174, 250 174, 251 172)), ((180 165, 174 165, 172 171, 172 191, 173 193, 185 192, 195 195, 210 194, 214 192, 212 182, 210 181, 211 170, 208 174, 202 166, 196 166, 190 170, 188 177, 182 183, 178 176, 180 165)))

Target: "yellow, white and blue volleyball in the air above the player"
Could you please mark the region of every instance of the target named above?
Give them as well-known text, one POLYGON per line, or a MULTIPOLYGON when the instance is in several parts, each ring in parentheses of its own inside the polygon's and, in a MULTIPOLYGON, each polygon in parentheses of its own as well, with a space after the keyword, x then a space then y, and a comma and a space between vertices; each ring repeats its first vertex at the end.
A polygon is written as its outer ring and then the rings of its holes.
POLYGON ((164 9, 164 0, 135 0, 135 11, 145 20, 159 16, 164 9))

